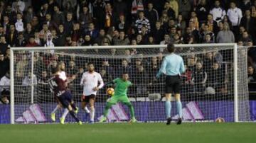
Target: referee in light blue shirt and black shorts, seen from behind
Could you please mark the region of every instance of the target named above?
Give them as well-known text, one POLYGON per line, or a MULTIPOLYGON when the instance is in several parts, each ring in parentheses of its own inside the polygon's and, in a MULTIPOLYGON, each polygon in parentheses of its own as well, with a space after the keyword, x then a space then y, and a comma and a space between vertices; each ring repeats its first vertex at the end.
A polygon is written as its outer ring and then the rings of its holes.
POLYGON ((181 124, 182 104, 181 104, 181 79, 180 75, 185 72, 184 62, 181 56, 176 55, 175 47, 172 44, 167 45, 167 50, 170 55, 164 57, 159 72, 156 74, 156 79, 159 79, 161 74, 166 74, 166 125, 171 123, 171 93, 174 93, 176 99, 176 107, 178 112, 177 125, 181 124))

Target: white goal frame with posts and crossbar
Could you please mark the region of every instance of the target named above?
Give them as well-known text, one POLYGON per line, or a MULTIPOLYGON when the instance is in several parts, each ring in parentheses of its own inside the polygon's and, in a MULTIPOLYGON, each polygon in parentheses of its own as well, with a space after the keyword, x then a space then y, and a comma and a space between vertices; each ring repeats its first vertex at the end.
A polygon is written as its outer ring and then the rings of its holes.
MULTIPOLYGON (((163 48, 167 45, 114 45, 114 46, 93 46, 93 49, 129 49, 129 48, 153 48, 159 47, 163 48)), ((233 47, 233 88, 234 88, 234 122, 239 122, 238 120, 238 45, 236 43, 223 43, 223 44, 193 44, 193 45, 174 45, 175 47, 233 47)), ((33 56, 34 50, 85 50, 92 49, 91 46, 78 46, 78 47, 28 47, 26 51, 31 52, 31 103, 33 103, 33 56)), ((14 124, 14 51, 24 50, 21 47, 11 47, 10 48, 10 105, 11 105, 11 124, 14 124)))

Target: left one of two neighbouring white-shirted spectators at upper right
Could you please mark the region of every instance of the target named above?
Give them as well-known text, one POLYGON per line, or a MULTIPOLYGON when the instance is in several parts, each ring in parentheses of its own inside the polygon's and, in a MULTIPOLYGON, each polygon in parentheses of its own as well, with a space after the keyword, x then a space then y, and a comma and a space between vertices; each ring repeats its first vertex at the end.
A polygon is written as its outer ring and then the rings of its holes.
POLYGON ((220 7, 220 0, 216 0, 214 5, 215 7, 210 10, 210 14, 213 15, 213 20, 219 23, 223 21, 226 12, 224 8, 220 7))

